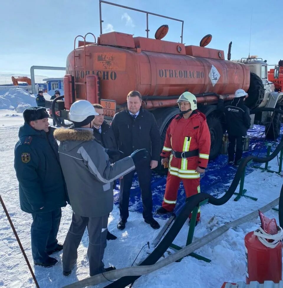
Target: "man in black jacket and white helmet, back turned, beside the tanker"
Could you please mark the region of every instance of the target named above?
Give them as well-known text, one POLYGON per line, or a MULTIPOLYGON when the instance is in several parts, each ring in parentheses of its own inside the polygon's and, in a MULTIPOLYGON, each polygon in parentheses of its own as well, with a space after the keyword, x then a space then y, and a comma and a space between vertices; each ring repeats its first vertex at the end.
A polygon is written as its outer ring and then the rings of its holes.
POLYGON ((238 161, 242 158, 245 136, 251 126, 250 110, 244 104, 246 96, 248 96, 248 93, 243 89, 238 89, 230 105, 224 106, 224 97, 222 95, 219 96, 217 104, 217 109, 225 112, 229 140, 228 163, 236 167, 239 166, 238 161))

